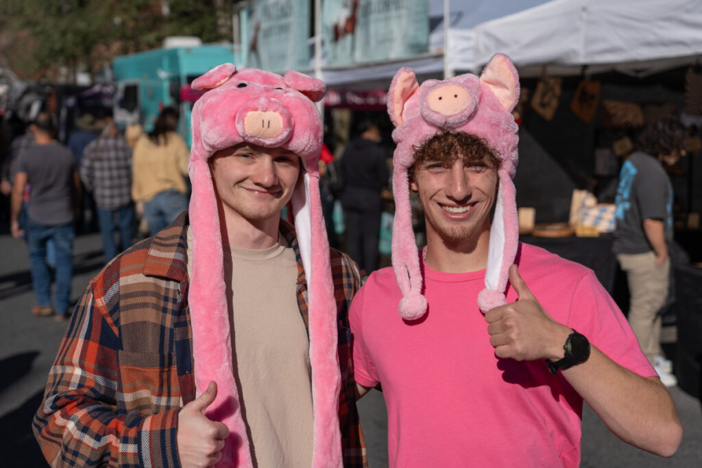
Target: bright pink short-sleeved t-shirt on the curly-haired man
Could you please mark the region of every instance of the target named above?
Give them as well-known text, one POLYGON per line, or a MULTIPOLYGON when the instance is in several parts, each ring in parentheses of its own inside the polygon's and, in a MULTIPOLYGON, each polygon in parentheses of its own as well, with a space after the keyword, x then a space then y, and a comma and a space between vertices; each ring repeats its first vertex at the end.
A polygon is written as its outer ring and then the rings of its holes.
MULTIPOLYGON (((543 308, 616 363, 656 375, 595 274, 522 244, 519 274, 543 308)), ((391 467, 577 467, 583 401, 544 361, 498 359, 476 297, 484 270, 423 265, 428 314, 397 312, 395 274, 371 274, 350 309, 359 384, 383 387, 391 467)), ((517 300, 508 290, 508 302, 517 300)))

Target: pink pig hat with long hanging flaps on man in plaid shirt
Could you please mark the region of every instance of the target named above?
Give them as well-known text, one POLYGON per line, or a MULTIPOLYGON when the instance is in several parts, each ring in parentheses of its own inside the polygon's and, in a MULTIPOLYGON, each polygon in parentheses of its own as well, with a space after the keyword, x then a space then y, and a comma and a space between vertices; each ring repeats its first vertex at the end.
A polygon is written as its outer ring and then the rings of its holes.
POLYGON ((303 178, 294 189, 291 201, 309 298, 314 399, 312 466, 341 467, 336 300, 317 168, 323 126, 322 116, 313 102, 324 96, 324 83, 294 71, 285 76, 256 69, 237 71, 234 65, 227 63, 194 80, 192 87, 209 91, 192 109, 189 172, 193 258, 188 302, 197 393, 204 392, 210 380, 217 382, 217 397, 206 415, 230 429, 217 466, 251 467, 252 462, 232 370, 223 246, 207 160, 219 149, 248 142, 289 149, 303 162, 303 178))

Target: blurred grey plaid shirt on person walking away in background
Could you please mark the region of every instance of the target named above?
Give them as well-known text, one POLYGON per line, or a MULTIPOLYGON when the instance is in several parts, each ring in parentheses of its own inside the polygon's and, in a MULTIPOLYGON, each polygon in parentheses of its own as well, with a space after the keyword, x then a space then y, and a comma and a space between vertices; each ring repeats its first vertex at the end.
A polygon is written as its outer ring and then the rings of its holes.
POLYGON ((131 203, 131 148, 121 136, 103 135, 88 143, 81 180, 103 210, 131 203))

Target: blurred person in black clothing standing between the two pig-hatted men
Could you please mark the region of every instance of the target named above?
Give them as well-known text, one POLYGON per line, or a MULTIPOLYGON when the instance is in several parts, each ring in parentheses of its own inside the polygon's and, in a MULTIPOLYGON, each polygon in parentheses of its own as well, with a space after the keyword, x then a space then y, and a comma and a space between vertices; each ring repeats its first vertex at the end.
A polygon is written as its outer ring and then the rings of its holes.
POLYGON ((358 263, 362 274, 378 267, 380 235, 380 190, 388 185, 385 153, 378 145, 380 128, 371 121, 361 121, 358 135, 352 138, 341 157, 343 194, 341 205, 347 226, 346 250, 358 263))

